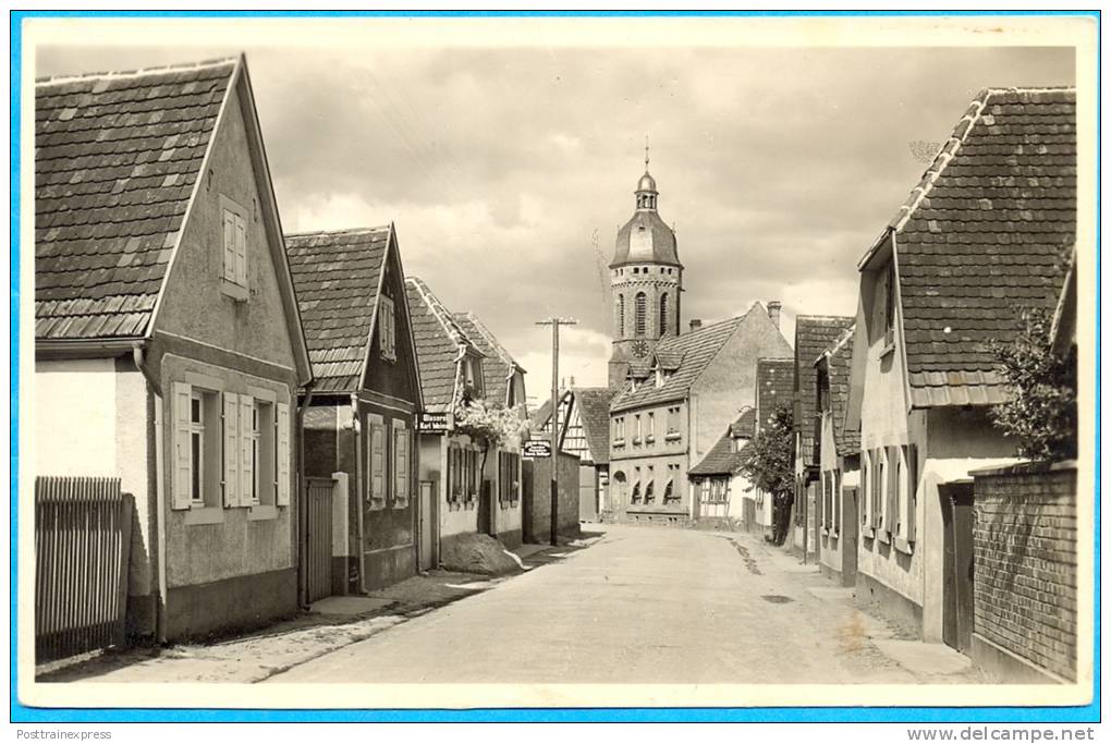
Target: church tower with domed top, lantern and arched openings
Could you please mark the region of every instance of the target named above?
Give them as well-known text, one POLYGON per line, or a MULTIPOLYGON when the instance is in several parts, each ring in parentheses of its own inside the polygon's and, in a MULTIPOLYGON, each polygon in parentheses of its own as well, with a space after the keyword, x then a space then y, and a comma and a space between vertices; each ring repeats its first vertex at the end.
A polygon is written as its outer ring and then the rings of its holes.
POLYGON ((644 359, 664 335, 679 335, 683 264, 679 263, 675 233, 657 211, 659 192, 648 172, 637 183, 637 211, 618 231, 610 263, 613 296, 613 353, 610 388, 620 389, 629 365, 644 359))

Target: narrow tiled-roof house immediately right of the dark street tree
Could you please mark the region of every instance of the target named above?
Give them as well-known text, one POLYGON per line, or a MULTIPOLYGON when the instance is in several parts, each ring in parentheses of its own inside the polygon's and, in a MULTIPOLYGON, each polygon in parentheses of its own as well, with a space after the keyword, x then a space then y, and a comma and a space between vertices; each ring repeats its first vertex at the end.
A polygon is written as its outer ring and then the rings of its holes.
POLYGON ((818 554, 822 504, 818 497, 821 412, 814 360, 851 324, 852 318, 838 315, 799 315, 794 321, 793 549, 803 559, 818 554))

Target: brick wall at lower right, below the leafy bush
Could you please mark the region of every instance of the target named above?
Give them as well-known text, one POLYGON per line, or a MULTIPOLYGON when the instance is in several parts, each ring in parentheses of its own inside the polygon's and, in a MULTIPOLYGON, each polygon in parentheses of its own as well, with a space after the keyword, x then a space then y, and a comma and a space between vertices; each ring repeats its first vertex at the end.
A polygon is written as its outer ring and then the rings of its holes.
POLYGON ((1024 464, 974 475, 974 632, 1075 680, 1077 471, 1024 464))

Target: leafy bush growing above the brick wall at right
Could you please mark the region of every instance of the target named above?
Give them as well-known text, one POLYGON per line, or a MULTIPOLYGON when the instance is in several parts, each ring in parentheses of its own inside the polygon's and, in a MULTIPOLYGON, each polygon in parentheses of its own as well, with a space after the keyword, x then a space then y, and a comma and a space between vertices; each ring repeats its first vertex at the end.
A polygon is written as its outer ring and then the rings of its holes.
POLYGON ((1019 441, 1019 456, 1077 456, 1077 354, 1053 352, 1053 318, 1043 308, 1019 311, 1018 333, 988 344, 1011 395, 992 409, 995 425, 1019 441))

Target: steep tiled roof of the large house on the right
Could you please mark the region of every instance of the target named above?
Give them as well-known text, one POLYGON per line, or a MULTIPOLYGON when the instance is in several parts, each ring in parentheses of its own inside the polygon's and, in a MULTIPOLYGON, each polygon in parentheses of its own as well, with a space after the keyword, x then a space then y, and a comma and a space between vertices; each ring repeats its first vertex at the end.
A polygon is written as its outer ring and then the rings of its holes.
POLYGON ((987 342, 1053 306, 1075 240, 1075 100, 984 90, 892 221, 914 405, 1005 400, 987 342))

